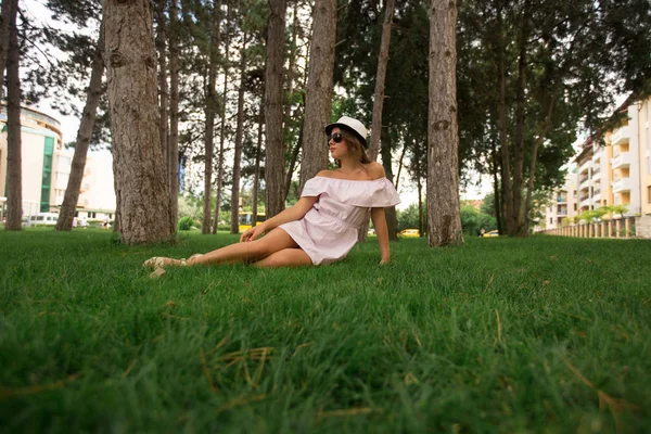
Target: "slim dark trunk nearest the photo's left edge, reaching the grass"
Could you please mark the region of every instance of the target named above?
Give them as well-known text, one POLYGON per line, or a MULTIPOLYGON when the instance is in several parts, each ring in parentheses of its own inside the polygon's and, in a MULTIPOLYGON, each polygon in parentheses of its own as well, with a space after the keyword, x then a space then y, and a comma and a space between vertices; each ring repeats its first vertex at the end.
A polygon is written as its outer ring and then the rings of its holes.
MULTIPOLYGON (((7 230, 21 230, 23 215, 23 158, 21 145, 21 46, 18 43, 18 0, 9 8, 7 53, 7 230)), ((3 7, 4 9, 4 7, 3 7)), ((4 12, 4 11, 3 11, 4 12)), ((0 85, 1 86, 1 85, 0 85)))

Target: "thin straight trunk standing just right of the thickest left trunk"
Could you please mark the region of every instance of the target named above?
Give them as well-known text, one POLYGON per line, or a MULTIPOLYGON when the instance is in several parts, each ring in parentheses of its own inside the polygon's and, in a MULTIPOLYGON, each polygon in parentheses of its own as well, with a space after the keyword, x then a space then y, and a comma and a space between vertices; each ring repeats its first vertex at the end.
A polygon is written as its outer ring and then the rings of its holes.
POLYGON ((167 182, 171 227, 179 219, 179 0, 169 3, 169 138, 167 142, 167 182))

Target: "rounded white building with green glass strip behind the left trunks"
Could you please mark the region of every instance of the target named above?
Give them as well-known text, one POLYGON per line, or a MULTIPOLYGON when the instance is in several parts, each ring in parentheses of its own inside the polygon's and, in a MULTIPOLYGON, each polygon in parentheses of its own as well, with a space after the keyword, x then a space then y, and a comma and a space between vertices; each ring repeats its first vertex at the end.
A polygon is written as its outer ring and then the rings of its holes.
MULTIPOLYGON (((7 203, 7 106, 0 105, 0 218, 7 203)), ((38 110, 23 106, 21 110, 22 190, 23 216, 38 213, 58 213, 63 203, 69 178, 73 150, 63 145, 63 132, 58 119, 38 110)), ((78 216, 103 218, 115 213, 113 173, 102 162, 87 161, 78 216), (103 168, 103 170, 102 170, 103 168), (93 176, 101 174, 101 178, 93 176), (103 184, 108 183, 106 191, 103 184), (98 206, 101 202, 101 207, 98 206)))

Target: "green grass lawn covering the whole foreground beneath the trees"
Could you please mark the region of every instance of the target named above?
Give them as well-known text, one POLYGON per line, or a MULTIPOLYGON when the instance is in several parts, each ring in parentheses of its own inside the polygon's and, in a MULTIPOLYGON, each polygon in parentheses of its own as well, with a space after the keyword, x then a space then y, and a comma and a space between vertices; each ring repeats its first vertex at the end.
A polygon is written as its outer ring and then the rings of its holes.
POLYGON ((411 239, 379 267, 371 239, 327 267, 150 279, 151 256, 235 238, 179 240, 0 232, 0 432, 651 426, 649 242, 411 239))

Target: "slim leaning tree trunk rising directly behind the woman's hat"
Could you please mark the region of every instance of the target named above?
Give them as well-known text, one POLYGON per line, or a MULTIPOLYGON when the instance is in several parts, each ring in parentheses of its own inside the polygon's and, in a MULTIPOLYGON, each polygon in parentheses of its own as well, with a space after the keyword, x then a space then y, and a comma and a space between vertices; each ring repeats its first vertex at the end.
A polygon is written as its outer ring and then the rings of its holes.
POLYGON ((380 152, 380 136, 382 131, 382 107, 384 106, 384 81, 386 80, 386 64, 388 63, 388 46, 391 42, 391 26, 395 0, 387 0, 384 10, 384 24, 382 25, 382 39, 380 41, 380 55, 378 56, 378 72, 375 73, 375 92, 373 98, 373 118, 371 120, 371 146, 369 158, 374 162, 380 152))

